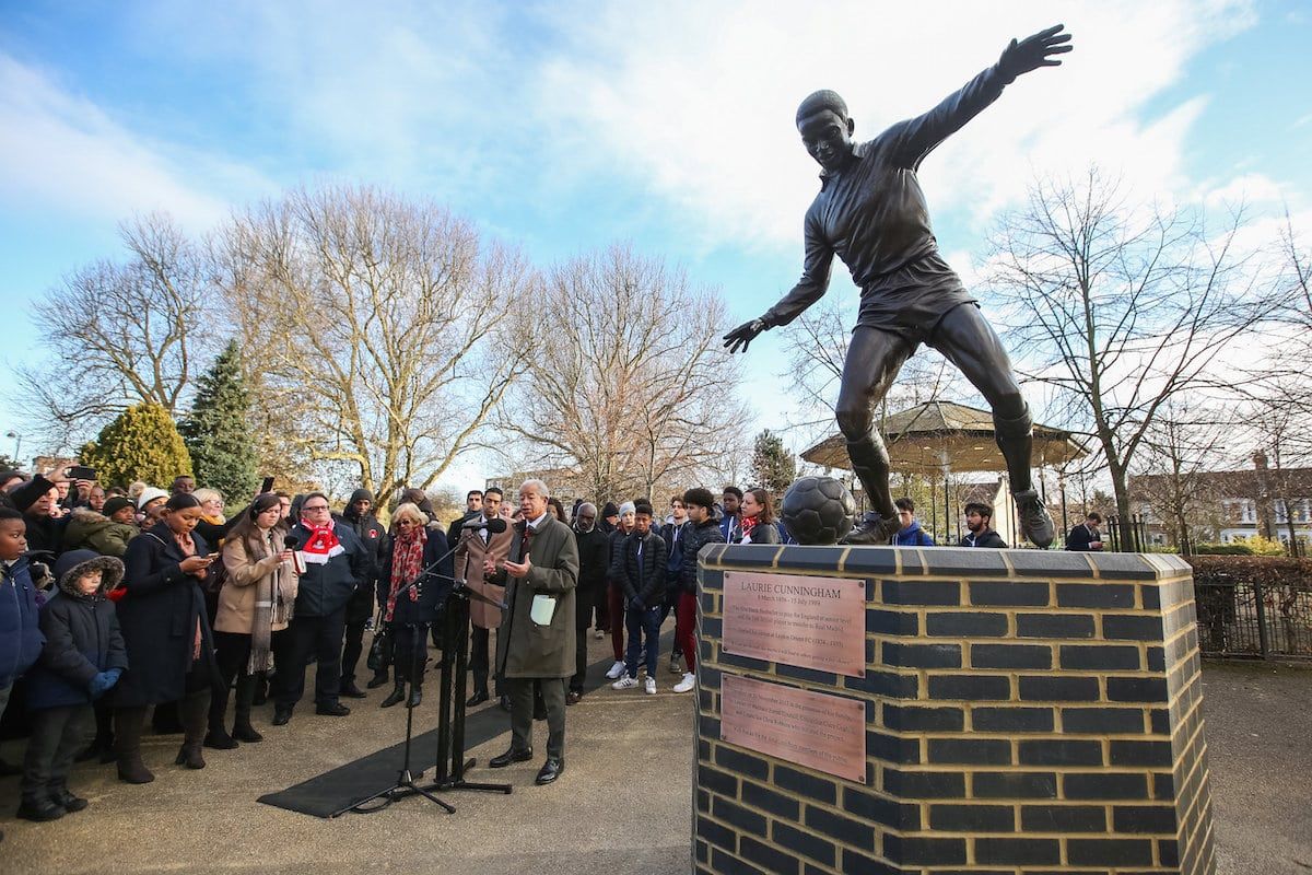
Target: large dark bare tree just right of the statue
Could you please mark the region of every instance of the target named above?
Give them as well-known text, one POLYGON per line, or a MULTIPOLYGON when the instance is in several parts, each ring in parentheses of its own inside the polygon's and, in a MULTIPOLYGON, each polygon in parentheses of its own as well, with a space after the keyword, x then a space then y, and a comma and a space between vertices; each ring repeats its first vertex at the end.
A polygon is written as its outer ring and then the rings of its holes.
POLYGON ((1136 211, 1094 168, 1040 181, 994 236, 988 285, 1009 320, 1019 373, 1069 399, 1071 428, 1097 441, 1122 538, 1127 478, 1162 405, 1235 382, 1223 356, 1284 295, 1235 245, 1235 210, 1208 228, 1189 209, 1136 211))

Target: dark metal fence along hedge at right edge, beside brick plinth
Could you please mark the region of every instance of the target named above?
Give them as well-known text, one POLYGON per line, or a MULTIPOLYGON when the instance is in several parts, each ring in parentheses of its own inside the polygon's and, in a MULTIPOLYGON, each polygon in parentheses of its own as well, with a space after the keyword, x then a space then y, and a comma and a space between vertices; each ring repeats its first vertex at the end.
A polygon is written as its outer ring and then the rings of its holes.
POLYGON ((1204 656, 1312 657, 1312 586, 1194 581, 1204 656))

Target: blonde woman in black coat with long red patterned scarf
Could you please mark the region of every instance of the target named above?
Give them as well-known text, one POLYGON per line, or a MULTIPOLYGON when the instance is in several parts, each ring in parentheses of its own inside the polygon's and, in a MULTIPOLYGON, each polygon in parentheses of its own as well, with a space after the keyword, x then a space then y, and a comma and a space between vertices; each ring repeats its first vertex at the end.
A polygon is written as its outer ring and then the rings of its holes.
POLYGON ((422 701, 428 628, 451 592, 455 563, 447 550, 446 535, 441 529, 428 526, 428 514, 417 505, 407 502, 396 508, 392 527, 392 539, 378 577, 378 603, 392 635, 396 686, 383 699, 382 707, 390 708, 405 699, 405 681, 413 674, 405 706, 413 708, 422 701), (419 586, 411 588, 416 579, 420 580, 419 586))

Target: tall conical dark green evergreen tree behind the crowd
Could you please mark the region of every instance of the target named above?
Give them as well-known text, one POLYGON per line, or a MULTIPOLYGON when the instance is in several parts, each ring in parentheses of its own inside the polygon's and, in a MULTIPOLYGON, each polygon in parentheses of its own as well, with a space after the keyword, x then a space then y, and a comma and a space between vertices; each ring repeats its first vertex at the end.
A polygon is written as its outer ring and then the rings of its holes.
POLYGON ((198 485, 218 489, 234 505, 260 485, 251 434, 251 396, 235 341, 197 380, 192 412, 178 424, 198 485))

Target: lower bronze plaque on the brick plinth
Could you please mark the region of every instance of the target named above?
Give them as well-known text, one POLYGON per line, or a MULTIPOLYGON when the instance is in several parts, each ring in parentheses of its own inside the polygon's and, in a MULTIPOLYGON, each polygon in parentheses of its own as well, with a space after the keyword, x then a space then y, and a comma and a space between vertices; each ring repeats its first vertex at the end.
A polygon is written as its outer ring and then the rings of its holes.
POLYGON ((723 674, 720 739, 866 783, 866 703, 723 674))

